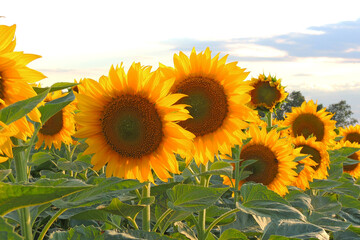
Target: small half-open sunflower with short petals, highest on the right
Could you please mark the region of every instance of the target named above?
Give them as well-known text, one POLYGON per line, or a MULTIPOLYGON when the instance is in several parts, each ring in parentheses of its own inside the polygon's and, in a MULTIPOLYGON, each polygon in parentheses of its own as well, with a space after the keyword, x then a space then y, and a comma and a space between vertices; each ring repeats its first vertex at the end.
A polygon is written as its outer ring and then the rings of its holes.
POLYGON ((270 74, 268 77, 260 74, 258 78, 251 78, 250 86, 254 88, 250 91, 249 102, 249 106, 253 109, 266 109, 272 112, 288 95, 281 86, 281 79, 276 79, 270 74))

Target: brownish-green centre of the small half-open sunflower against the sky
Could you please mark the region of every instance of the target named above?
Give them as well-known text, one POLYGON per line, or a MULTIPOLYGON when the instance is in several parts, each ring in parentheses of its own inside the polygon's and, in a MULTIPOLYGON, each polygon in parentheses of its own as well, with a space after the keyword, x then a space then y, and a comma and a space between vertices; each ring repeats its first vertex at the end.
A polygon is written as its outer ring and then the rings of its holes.
POLYGON ((267 108, 272 108, 281 97, 281 92, 269 82, 257 82, 251 90, 251 101, 254 105, 265 104, 267 108))

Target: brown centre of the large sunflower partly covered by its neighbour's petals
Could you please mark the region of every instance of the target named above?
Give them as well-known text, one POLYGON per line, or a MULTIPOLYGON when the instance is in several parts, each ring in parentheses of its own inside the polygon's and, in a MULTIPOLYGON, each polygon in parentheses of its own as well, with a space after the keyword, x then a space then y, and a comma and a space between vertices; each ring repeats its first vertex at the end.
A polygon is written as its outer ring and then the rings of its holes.
POLYGON ((212 133, 222 126, 228 114, 228 102, 224 87, 217 81, 209 77, 189 77, 172 91, 188 95, 178 103, 191 106, 187 109, 193 118, 180 122, 180 126, 195 136, 212 133))

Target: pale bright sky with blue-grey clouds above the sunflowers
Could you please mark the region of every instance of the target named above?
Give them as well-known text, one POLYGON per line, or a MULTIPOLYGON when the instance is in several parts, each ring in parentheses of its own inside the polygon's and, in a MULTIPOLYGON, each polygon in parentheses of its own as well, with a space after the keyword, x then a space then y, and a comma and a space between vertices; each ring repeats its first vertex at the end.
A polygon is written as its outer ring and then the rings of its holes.
POLYGON ((360 122, 358 0, 2 0, 0 24, 16 24, 15 50, 43 86, 99 79, 111 65, 173 66, 173 55, 206 47, 228 62, 282 79, 324 106, 346 100, 360 122))

